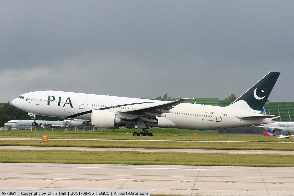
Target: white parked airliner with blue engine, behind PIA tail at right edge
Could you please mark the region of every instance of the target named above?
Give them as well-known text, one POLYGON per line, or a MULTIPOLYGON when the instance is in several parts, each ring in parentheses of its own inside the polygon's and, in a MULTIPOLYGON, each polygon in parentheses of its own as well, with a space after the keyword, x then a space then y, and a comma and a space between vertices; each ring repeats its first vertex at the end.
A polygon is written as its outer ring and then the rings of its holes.
MULTIPOLYGON (((261 113, 266 115, 264 108, 261 110, 261 113)), ((294 122, 276 121, 259 126, 265 128, 266 131, 263 133, 264 135, 276 135, 277 132, 280 131, 294 131, 294 122)))

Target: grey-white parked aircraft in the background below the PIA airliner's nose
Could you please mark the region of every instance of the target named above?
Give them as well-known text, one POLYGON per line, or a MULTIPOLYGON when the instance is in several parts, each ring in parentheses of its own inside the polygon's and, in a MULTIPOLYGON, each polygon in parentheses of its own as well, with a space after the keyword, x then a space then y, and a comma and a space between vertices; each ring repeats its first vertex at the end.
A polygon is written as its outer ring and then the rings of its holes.
MULTIPOLYGON (((10 128, 15 128, 15 129, 29 129, 33 126, 32 123, 34 122, 34 120, 18 120, 16 123, 9 123, 9 122, 5 123, 4 125, 10 128)), ((64 120, 36 120, 36 123, 37 125, 40 125, 40 126, 50 125, 53 127, 91 125, 90 120, 73 119, 73 118, 72 119, 68 118, 64 120)))

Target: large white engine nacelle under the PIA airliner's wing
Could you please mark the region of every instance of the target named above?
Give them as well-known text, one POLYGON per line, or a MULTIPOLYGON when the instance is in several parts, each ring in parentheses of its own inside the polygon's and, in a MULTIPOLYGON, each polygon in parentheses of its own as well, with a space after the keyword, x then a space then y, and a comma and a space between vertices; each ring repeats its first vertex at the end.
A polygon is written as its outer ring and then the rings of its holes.
POLYGON ((92 126, 98 128, 118 129, 121 125, 121 117, 107 110, 93 110, 91 116, 92 126))

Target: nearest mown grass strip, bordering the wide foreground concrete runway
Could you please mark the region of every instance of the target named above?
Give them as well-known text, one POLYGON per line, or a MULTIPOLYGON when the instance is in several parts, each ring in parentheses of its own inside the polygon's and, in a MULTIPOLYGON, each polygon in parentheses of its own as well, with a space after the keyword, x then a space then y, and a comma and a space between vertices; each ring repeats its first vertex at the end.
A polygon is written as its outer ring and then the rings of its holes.
POLYGON ((0 162, 294 167, 294 155, 0 150, 0 162))

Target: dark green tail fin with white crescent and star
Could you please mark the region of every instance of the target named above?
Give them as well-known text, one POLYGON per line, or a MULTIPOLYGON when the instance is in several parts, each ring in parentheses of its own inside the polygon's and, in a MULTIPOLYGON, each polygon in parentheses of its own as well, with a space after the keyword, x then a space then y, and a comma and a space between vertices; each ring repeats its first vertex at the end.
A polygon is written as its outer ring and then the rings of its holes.
POLYGON ((260 113, 279 75, 279 72, 269 72, 227 107, 260 113))

